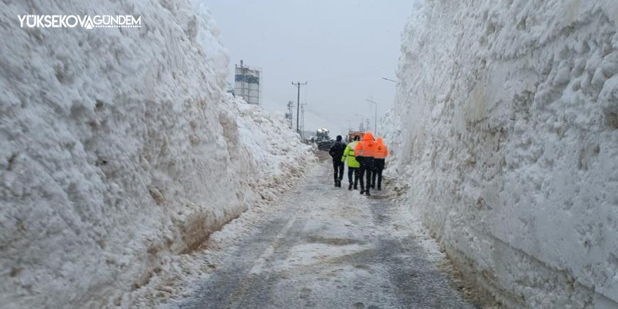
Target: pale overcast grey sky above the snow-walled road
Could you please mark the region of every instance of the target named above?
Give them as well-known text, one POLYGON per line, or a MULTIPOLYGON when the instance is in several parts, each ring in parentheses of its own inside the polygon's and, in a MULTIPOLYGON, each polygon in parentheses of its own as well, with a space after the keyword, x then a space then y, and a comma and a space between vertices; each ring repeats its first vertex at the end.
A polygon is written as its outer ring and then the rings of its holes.
MULTIPOLYGON (((400 33, 409 0, 203 0, 230 51, 230 77, 242 59, 262 69, 261 104, 284 112, 301 87, 305 130, 331 137, 358 129, 360 116, 378 117, 393 105, 400 33)), ((379 128, 378 128, 379 129, 379 128)))

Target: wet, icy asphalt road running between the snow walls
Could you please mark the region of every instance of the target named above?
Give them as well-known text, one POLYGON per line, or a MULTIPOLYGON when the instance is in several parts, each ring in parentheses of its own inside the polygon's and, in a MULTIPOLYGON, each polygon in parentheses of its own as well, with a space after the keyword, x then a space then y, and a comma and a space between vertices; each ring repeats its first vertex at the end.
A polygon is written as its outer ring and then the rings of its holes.
POLYGON ((166 308, 475 308, 399 231, 388 188, 365 197, 331 182, 327 160, 263 225, 222 249, 192 296, 166 308))

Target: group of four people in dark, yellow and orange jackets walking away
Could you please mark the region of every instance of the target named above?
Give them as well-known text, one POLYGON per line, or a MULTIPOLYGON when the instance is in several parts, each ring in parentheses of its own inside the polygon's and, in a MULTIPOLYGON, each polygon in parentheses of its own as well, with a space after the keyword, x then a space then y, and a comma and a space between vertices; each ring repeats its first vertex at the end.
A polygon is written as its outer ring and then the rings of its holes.
POLYGON ((354 140, 346 145, 337 136, 336 142, 331 146, 329 154, 333 158, 335 187, 341 188, 344 164, 348 166, 348 190, 358 189, 360 194, 371 195, 370 189, 382 190, 382 171, 384 160, 388 156, 388 149, 382 138, 374 139, 371 132, 364 133, 362 140, 355 136, 354 140), (365 183, 364 179, 367 180, 365 183))

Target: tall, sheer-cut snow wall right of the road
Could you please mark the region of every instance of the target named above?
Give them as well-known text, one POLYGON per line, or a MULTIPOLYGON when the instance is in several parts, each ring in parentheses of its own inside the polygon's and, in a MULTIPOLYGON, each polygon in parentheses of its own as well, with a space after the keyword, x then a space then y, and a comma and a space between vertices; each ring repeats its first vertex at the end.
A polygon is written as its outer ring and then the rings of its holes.
POLYGON ((386 140, 512 308, 618 308, 618 2, 416 1, 386 140))

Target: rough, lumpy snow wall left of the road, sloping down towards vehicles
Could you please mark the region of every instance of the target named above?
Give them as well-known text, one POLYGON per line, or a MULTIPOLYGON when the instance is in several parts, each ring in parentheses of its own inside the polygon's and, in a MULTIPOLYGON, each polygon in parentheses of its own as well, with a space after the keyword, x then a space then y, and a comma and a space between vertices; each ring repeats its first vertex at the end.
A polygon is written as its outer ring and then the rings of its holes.
POLYGON ((188 1, 0 1, 0 37, 0 308, 126 305, 313 162, 283 117, 226 95, 228 55, 188 1), (142 27, 18 20, 59 13, 142 27))

